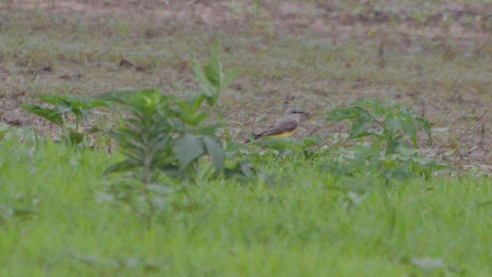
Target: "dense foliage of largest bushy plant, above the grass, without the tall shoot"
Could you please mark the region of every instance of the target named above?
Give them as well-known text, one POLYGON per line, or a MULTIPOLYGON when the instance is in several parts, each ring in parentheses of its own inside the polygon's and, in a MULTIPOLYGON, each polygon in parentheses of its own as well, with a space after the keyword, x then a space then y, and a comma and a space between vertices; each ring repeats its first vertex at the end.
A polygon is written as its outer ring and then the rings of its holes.
POLYGON ((178 170, 192 174, 196 173, 197 160, 205 154, 211 155, 217 173, 223 169, 224 150, 215 136, 218 125, 205 124, 209 114, 200 109, 203 95, 184 101, 161 95, 158 90, 144 90, 98 99, 123 104, 124 111, 130 114, 123 119, 123 126, 106 131, 120 143, 127 157, 111 172, 143 167, 149 173, 178 170))

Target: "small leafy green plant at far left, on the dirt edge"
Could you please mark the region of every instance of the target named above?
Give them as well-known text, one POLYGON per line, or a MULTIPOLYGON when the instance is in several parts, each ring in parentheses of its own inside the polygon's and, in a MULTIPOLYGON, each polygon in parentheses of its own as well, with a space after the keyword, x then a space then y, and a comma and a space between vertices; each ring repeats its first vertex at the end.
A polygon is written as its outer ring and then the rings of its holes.
POLYGON ((62 138, 72 145, 78 145, 84 140, 85 132, 80 131, 79 127, 82 120, 87 120, 91 109, 100 106, 107 107, 107 104, 101 101, 73 96, 45 94, 39 96, 39 99, 53 105, 54 108, 40 107, 33 104, 20 104, 19 106, 60 126, 62 138), (73 117, 74 124, 70 124, 69 113, 73 117))

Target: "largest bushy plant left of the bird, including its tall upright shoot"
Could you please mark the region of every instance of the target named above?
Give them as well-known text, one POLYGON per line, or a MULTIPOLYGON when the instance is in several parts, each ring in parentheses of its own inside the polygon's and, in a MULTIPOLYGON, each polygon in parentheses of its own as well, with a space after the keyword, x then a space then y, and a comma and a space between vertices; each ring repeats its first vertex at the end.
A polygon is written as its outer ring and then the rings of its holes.
MULTIPOLYGON (((215 109, 221 123, 207 124, 206 119, 210 113, 204 110, 202 104, 206 101, 214 108, 220 93, 232 83, 240 70, 223 71, 219 48, 217 40, 212 45, 210 62, 204 68, 197 59, 193 60, 192 68, 201 89, 199 94, 181 99, 164 96, 158 90, 144 90, 97 98, 97 101, 123 106, 123 111, 129 114, 116 130, 104 130, 119 143, 121 152, 126 157, 124 161, 110 167, 107 173, 130 171, 134 174, 133 186, 114 188, 113 192, 125 195, 119 200, 146 217, 148 222, 154 210, 164 202, 160 193, 162 186, 158 185, 162 173, 198 181, 203 176, 208 176, 213 168, 216 175, 224 171, 226 157, 216 130, 222 126, 229 141, 229 123, 215 109), (202 174, 200 158, 206 155, 211 157, 213 167, 202 174), (140 195, 143 195, 145 205, 130 203, 137 199, 131 197, 135 196, 134 186, 143 193, 140 195), (141 208, 137 208, 138 206, 141 208)), ((226 173, 237 172, 234 167, 226 173)))

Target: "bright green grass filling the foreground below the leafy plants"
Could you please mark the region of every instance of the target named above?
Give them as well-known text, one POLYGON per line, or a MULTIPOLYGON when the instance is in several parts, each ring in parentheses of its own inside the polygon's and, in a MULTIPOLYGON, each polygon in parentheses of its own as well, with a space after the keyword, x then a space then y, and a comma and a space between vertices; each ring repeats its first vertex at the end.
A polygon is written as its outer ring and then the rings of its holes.
POLYGON ((2 276, 488 276, 492 270, 489 178, 441 176, 387 188, 361 179, 342 191, 316 164, 262 161, 255 166, 275 173, 269 181, 165 183, 176 191, 147 227, 128 208, 101 199, 105 184, 117 180, 102 173, 119 155, 13 139, 0 142, 0 151, 0 207, 18 210, 0 220, 2 276))

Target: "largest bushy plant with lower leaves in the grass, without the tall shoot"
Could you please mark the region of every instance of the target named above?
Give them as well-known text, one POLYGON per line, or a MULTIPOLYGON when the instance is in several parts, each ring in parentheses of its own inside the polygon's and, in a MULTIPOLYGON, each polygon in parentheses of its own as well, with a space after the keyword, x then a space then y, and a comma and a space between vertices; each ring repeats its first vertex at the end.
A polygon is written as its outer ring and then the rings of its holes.
POLYGON ((115 130, 102 130, 119 143, 125 156, 106 173, 130 172, 132 176, 111 184, 108 192, 111 199, 127 204, 149 224, 154 211, 165 208, 169 189, 161 178, 198 179, 199 159, 205 155, 212 157, 215 173, 222 172, 225 154, 215 136, 219 125, 205 124, 209 113, 200 108, 203 94, 182 100, 158 90, 143 90, 103 95, 98 100, 118 104, 128 114, 115 130))

